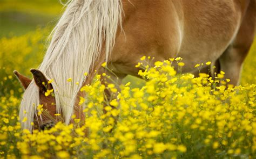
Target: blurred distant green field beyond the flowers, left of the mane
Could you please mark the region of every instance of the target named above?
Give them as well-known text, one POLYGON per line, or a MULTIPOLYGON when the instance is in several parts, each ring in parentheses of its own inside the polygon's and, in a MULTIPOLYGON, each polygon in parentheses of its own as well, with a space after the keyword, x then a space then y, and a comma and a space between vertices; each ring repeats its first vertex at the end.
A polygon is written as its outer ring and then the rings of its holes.
POLYGON ((62 9, 59 0, 0 0, 0 36, 23 35, 38 26, 52 26, 62 9))

